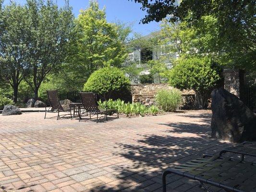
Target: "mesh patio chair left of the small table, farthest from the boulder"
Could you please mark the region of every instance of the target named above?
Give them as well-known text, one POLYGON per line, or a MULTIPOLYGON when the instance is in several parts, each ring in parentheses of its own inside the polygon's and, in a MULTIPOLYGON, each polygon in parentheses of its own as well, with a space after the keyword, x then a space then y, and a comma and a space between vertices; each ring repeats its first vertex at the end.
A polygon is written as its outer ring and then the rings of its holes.
MULTIPOLYGON (((57 120, 59 120, 59 118, 61 118, 61 116, 64 117, 66 115, 69 115, 69 114, 60 115, 60 112, 70 112, 70 116, 72 118, 72 112, 71 112, 70 106, 69 105, 61 106, 57 90, 48 90, 46 92, 47 92, 48 100, 50 103, 50 107, 48 110, 45 107, 45 118, 44 119, 46 119, 47 112, 58 113, 57 116, 54 116, 54 117, 57 117, 57 120)), ((53 118, 53 117, 51 117, 51 118, 53 118)))

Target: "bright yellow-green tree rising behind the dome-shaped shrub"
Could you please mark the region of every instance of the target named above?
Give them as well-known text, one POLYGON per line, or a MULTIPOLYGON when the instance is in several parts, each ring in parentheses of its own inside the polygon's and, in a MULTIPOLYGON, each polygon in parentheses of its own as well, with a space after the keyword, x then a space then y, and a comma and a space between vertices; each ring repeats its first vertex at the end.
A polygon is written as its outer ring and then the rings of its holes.
POLYGON ((107 22, 105 9, 100 10, 97 1, 91 0, 89 7, 80 12, 66 64, 80 82, 86 82, 92 72, 106 65, 121 66, 126 58, 122 43, 126 35, 121 37, 118 31, 120 27, 107 22))

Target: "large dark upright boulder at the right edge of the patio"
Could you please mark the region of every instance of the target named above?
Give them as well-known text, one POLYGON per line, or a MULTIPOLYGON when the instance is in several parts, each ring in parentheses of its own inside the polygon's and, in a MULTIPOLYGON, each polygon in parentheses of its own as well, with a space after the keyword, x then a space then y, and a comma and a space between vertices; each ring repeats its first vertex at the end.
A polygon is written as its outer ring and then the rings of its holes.
POLYGON ((256 140, 256 116, 237 96, 223 88, 211 93, 211 136, 231 142, 256 140))

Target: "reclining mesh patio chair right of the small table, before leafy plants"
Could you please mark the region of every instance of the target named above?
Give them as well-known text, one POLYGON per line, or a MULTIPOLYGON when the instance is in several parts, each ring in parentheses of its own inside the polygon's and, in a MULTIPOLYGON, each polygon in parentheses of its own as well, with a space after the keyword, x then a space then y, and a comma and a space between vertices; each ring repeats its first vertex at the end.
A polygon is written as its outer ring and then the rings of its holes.
MULTIPOLYGON (((98 108, 98 103, 96 99, 96 95, 94 93, 84 93, 80 92, 80 98, 83 104, 85 111, 80 115, 86 113, 89 114, 90 119, 91 116, 97 115, 97 123, 98 123, 98 115, 104 115, 106 120, 108 120, 108 113, 109 112, 117 112, 117 118, 119 118, 119 111, 118 109, 108 109, 107 106, 105 109, 98 108)), ((80 121, 81 118, 79 118, 80 121)))

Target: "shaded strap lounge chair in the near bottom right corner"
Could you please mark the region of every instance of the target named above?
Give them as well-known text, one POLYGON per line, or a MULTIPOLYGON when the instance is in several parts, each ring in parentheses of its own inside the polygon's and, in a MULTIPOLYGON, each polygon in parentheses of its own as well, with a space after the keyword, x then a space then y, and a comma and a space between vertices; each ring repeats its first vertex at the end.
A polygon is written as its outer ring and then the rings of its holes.
MULTIPOLYGON (((209 156, 209 155, 206 155, 209 156)), ((227 192, 255 192, 256 164, 219 155, 210 158, 197 158, 175 168, 163 172, 163 192, 166 192, 166 176, 176 175, 197 180, 200 186, 212 192, 209 184, 224 189, 227 192)))

